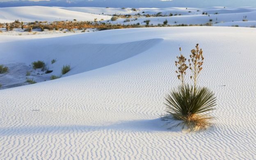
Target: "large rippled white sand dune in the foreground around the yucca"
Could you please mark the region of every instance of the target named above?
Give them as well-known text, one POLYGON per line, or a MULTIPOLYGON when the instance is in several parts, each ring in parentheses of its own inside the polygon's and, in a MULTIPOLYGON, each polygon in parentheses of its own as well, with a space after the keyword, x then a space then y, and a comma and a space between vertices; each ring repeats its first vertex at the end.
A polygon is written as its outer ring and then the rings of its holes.
POLYGON ((56 67, 71 63, 69 74, 79 74, 0 90, 0 159, 255 158, 255 28, 155 27, 16 37, 0 40, 0 63, 59 56, 56 67), (199 85, 217 95, 215 125, 200 133, 167 130, 159 116, 165 94, 179 84, 178 48, 188 56, 196 43, 205 57, 199 85))

